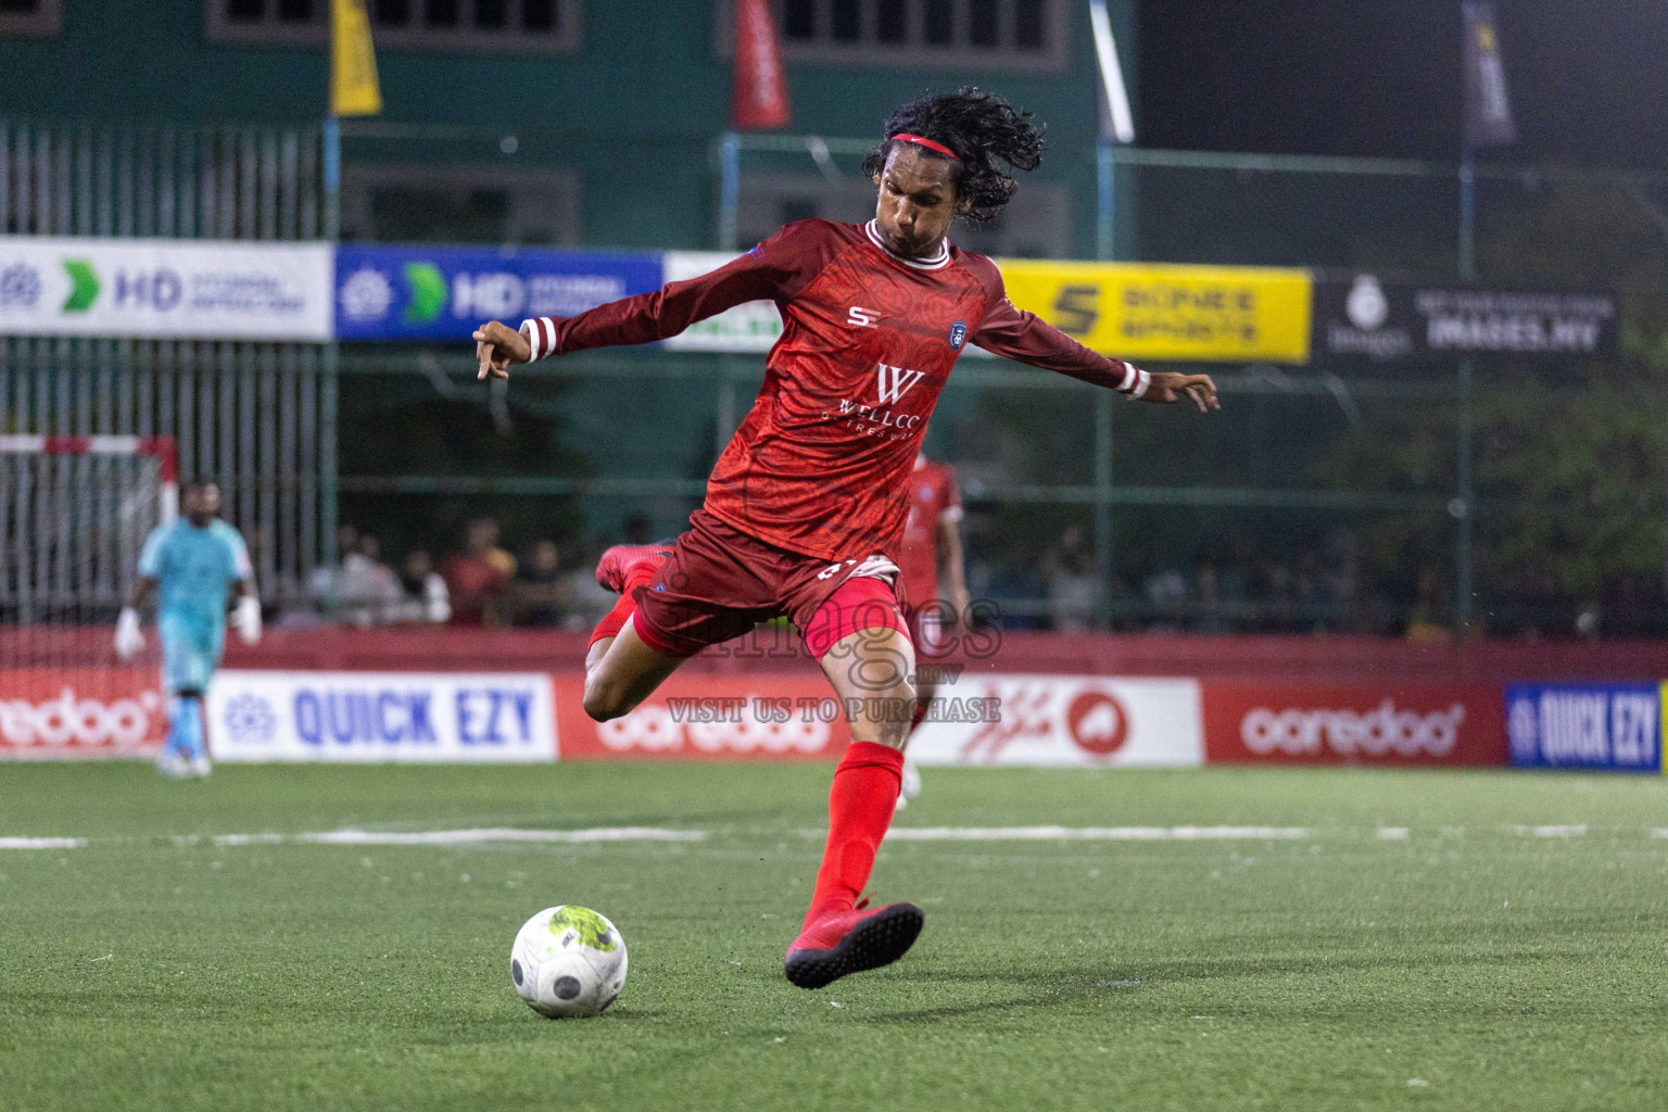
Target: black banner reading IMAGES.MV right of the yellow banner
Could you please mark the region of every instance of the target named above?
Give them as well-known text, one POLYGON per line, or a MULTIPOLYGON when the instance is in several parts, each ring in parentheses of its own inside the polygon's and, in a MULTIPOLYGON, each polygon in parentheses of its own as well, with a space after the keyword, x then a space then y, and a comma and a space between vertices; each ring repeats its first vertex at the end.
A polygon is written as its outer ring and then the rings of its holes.
POLYGON ((1611 293, 1511 293, 1379 282, 1314 283, 1314 355, 1374 362, 1616 353, 1611 293))

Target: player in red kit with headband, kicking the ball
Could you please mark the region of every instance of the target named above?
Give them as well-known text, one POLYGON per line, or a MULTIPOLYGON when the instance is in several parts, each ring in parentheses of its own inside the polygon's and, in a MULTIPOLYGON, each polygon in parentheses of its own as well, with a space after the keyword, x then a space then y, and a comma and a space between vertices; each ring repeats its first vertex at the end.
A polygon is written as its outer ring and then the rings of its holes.
POLYGON ((707 497, 672 547, 615 547, 597 579, 620 592, 585 657, 585 712, 627 714, 684 660, 786 614, 847 712, 829 834, 787 979, 821 989, 897 960, 921 932, 914 904, 869 909, 897 802, 916 692, 894 597, 907 483, 927 417, 966 343, 1148 402, 1218 408, 1208 375, 1153 373, 1098 355, 1002 290, 984 255, 947 240, 956 217, 991 220, 1042 137, 999 97, 964 88, 892 113, 864 168, 874 220, 791 223, 734 262, 577 317, 475 330, 480 377, 592 347, 649 343, 732 305, 772 300, 782 335, 764 385, 719 455, 707 497))

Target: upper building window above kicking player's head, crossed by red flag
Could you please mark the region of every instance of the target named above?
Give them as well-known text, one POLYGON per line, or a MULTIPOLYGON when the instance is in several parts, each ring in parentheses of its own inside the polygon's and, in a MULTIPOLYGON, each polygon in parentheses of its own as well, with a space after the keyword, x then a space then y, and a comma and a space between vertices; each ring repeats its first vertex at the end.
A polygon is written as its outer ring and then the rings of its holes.
MULTIPOLYGON (((1066 0, 772 0, 782 57, 886 67, 1063 70, 1066 0)), ((714 5, 721 57, 734 0, 714 5)))

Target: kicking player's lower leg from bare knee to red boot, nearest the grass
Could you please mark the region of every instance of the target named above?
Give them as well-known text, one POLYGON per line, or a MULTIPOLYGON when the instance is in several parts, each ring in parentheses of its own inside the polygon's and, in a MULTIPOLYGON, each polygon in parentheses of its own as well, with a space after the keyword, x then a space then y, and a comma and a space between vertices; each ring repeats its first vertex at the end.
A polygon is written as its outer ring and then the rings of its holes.
POLYGON ((822 672, 846 709, 852 745, 834 770, 829 840, 811 910, 787 949, 786 974, 801 989, 889 965, 921 934, 924 915, 914 904, 872 910, 867 900, 857 904, 897 804, 916 707, 914 670, 909 635, 896 629, 847 634, 822 657, 822 672))

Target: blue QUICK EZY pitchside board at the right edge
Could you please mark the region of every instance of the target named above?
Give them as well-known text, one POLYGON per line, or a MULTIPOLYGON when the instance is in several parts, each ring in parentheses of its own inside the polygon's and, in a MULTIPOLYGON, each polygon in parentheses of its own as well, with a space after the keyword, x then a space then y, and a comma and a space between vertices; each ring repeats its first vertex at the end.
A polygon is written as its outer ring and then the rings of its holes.
POLYGON ((1663 770, 1658 684, 1513 684, 1511 764, 1520 769, 1663 770))

